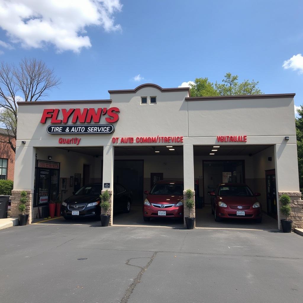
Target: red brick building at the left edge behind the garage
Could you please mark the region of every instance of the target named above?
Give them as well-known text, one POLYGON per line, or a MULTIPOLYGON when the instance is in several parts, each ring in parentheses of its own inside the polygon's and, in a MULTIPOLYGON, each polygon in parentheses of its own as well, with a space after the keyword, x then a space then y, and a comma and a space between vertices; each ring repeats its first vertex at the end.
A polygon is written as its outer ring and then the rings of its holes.
MULTIPOLYGON (((0 179, 14 180, 15 153, 8 143, 8 137, 14 137, 13 132, 0 128, 0 179)), ((16 146, 16 140, 12 139, 16 146)))

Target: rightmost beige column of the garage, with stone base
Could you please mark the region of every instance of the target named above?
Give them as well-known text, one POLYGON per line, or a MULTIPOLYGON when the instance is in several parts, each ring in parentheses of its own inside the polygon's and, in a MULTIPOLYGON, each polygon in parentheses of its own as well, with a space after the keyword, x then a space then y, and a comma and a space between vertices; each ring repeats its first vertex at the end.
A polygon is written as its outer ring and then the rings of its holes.
POLYGON ((294 220, 294 226, 302 226, 303 214, 302 210, 298 216, 295 215, 295 209, 300 204, 301 193, 299 188, 299 173, 298 173, 298 155, 297 144, 287 143, 286 140, 281 144, 275 145, 275 167, 276 167, 276 190, 277 190, 277 212, 278 212, 278 228, 281 229, 280 219, 283 219, 280 213, 279 196, 286 193, 290 196, 294 203, 291 204, 294 220), (295 209, 294 209, 295 208, 295 209))

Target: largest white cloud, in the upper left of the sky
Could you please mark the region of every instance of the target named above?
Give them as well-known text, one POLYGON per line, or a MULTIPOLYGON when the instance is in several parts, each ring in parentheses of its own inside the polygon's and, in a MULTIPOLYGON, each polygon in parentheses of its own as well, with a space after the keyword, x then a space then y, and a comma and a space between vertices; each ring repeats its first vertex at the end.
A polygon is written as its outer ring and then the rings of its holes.
POLYGON ((0 27, 12 43, 24 48, 53 44, 59 52, 80 52, 92 46, 85 28, 98 26, 105 32, 121 30, 114 13, 120 0, 0 0, 0 27))

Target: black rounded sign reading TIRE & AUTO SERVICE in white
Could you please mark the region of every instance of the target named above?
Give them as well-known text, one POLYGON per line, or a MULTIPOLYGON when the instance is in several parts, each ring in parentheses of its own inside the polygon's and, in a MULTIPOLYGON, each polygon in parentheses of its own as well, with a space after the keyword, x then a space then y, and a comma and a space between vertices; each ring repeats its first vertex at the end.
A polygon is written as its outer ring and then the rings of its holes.
POLYGON ((111 134, 115 128, 111 124, 98 125, 48 125, 49 134, 111 134))

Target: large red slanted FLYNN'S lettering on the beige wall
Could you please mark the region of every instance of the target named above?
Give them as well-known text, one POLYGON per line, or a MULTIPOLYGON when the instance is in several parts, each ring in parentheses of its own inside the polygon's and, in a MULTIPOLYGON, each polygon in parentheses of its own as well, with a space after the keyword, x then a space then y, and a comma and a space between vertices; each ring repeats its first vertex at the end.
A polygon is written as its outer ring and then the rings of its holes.
POLYGON ((66 124, 70 117, 72 117, 72 123, 99 123, 101 116, 108 115, 105 118, 105 121, 108 123, 115 123, 119 120, 118 113, 120 112, 118 107, 110 107, 110 108, 70 108, 65 109, 62 108, 62 117, 58 119, 60 109, 52 108, 52 109, 45 109, 43 111, 40 123, 46 123, 48 118, 51 118, 51 123, 53 124, 66 124))

